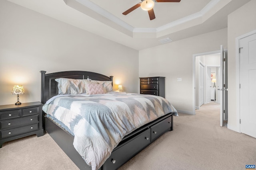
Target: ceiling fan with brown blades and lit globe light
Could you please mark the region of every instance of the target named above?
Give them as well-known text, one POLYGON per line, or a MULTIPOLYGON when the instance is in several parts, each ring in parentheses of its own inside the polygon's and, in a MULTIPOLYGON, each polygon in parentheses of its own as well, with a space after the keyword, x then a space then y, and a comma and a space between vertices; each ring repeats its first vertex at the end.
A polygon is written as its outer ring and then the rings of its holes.
POLYGON ((150 20, 154 20, 156 18, 154 10, 153 10, 154 2, 180 2, 180 0, 141 0, 140 3, 134 5, 132 8, 126 10, 125 12, 123 12, 123 14, 127 15, 130 12, 141 7, 142 10, 148 11, 150 20))

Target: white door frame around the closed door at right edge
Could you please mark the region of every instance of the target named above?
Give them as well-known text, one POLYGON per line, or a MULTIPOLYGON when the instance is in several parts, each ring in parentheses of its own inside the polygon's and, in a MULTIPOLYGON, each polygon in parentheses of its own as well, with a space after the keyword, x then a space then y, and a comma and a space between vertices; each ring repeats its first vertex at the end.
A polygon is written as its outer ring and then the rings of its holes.
POLYGON ((253 30, 244 35, 236 37, 236 127, 233 127, 233 126, 230 127, 228 125, 228 129, 232 129, 233 131, 236 131, 239 133, 241 133, 240 131, 240 88, 239 88, 239 84, 240 84, 239 41, 240 39, 243 39, 255 33, 256 33, 256 30, 253 30))

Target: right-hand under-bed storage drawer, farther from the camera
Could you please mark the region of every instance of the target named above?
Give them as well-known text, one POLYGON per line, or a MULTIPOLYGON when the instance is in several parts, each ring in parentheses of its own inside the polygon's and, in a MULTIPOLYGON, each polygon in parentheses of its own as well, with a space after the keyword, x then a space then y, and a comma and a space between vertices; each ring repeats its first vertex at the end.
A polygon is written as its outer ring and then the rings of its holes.
POLYGON ((172 126, 172 116, 167 117, 163 121, 157 123, 156 125, 151 127, 151 140, 154 141, 158 137, 160 137, 166 131, 170 131, 172 126))

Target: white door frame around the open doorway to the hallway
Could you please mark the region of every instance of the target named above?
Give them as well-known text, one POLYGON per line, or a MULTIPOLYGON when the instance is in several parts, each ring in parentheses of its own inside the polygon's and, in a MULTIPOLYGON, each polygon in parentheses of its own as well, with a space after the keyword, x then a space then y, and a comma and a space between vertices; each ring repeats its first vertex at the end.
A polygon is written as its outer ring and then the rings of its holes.
MULTIPOLYGON (((225 50, 224 50, 225 51, 225 50)), ((209 51, 205 53, 198 53, 198 54, 193 54, 192 59, 193 59, 193 64, 192 64, 192 115, 196 114, 196 57, 202 56, 202 55, 211 55, 211 54, 216 54, 220 53, 220 50, 217 51, 209 51)))

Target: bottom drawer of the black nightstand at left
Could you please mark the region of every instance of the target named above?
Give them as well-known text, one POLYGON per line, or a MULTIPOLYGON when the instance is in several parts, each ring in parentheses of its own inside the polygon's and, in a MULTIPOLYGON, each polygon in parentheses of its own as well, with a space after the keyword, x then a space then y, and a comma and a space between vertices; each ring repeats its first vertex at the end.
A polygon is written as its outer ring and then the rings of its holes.
POLYGON ((39 123, 35 123, 32 125, 27 125, 27 126, 23 126, 23 127, 17 127, 17 128, 1 131, 1 138, 12 137, 15 135, 19 135, 21 133, 38 130, 39 129, 38 124, 39 123))

